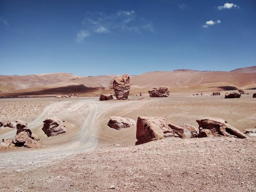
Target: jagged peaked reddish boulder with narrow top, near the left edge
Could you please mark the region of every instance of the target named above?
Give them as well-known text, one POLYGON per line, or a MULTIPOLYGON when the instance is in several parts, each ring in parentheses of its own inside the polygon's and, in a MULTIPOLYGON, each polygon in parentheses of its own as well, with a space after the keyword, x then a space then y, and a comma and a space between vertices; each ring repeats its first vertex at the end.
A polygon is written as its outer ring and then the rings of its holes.
POLYGON ((27 127, 27 124, 25 122, 17 120, 16 123, 16 145, 28 148, 44 147, 40 139, 35 134, 32 134, 31 130, 27 127))

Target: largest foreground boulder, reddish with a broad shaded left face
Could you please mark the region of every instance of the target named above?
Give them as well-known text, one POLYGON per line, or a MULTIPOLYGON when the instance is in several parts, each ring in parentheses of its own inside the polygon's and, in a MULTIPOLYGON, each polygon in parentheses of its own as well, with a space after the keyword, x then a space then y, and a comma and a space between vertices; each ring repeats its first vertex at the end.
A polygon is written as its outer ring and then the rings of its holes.
POLYGON ((163 117, 141 116, 137 120, 135 145, 160 140, 166 137, 184 137, 183 128, 174 122, 168 123, 163 117), (173 128, 171 128, 171 127, 173 128))

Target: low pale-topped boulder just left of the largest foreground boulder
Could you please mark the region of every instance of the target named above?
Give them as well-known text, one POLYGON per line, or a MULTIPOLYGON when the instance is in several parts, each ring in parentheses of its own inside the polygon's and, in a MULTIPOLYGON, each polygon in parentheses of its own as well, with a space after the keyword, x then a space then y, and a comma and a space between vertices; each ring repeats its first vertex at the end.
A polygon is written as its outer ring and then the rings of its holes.
POLYGON ((122 130, 124 128, 136 125, 136 121, 134 121, 134 119, 127 117, 110 116, 109 118, 110 120, 108 122, 108 126, 116 130, 122 130))

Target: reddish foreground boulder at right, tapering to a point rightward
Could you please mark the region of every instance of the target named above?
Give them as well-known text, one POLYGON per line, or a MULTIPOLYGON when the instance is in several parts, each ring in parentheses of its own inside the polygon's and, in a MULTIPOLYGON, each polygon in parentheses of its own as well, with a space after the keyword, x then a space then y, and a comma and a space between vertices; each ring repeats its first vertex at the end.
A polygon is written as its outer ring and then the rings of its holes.
POLYGON ((199 137, 235 137, 239 139, 250 139, 238 129, 229 125, 224 119, 200 118, 197 119, 199 125, 199 137))

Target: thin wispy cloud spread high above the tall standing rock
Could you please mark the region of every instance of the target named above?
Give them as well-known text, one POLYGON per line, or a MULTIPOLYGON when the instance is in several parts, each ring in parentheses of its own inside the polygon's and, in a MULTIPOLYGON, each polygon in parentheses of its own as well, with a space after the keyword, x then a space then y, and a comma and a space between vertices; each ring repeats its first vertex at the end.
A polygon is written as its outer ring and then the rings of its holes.
MULTIPOLYGON (((153 24, 139 17, 135 11, 118 11, 113 14, 90 13, 81 23, 87 33, 92 35, 93 33, 103 34, 116 31, 141 33, 144 30, 154 32, 153 24)), ((84 38, 77 38, 80 39, 78 42, 83 41, 84 38)))

